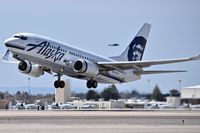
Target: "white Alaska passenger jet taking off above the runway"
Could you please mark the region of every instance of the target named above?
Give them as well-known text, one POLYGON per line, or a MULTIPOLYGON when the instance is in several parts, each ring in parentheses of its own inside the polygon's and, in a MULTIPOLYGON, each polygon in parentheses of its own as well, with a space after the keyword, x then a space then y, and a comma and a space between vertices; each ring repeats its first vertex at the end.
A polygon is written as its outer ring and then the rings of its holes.
POLYGON ((132 42, 119 56, 105 57, 88 52, 47 37, 31 33, 18 33, 5 40, 8 48, 4 60, 11 52, 19 61, 18 69, 24 74, 39 77, 56 73, 55 88, 63 88, 62 75, 87 80, 88 88, 98 83, 125 83, 139 80, 144 74, 159 74, 184 71, 145 70, 152 65, 161 65, 199 60, 191 58, 142 61, 151 25, 145 23, 132 42))

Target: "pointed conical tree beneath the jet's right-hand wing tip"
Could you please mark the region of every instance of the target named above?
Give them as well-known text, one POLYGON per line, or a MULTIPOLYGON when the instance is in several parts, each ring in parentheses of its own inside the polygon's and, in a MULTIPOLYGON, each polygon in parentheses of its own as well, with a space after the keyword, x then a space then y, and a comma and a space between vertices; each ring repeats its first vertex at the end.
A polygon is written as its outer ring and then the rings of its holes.
POLYGON ((154 99, 156 101, 164 101, 164 96, 162 95, 160 88, 157 84, 153 89, 152 99, 154 99))

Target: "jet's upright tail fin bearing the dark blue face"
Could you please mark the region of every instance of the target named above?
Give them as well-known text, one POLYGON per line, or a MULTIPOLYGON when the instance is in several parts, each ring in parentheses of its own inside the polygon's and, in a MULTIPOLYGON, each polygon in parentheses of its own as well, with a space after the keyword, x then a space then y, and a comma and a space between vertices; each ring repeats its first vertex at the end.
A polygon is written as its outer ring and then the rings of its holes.
POLYGON ((120 56, 111 57, 118 61, 140 61, 144 53, 151 25, 145 23, 133 41, 120 56))

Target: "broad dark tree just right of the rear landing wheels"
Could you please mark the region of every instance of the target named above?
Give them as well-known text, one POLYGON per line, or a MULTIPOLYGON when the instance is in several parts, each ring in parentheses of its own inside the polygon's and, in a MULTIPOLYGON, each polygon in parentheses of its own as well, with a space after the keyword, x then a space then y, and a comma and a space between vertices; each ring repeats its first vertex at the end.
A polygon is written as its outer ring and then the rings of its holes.
POLYGON ((105 101, 109 101, 110 99, 119 99, 119 92, 117 87, 114 84, 109 85, 102 91, 101 97, 104 98, 105 101))

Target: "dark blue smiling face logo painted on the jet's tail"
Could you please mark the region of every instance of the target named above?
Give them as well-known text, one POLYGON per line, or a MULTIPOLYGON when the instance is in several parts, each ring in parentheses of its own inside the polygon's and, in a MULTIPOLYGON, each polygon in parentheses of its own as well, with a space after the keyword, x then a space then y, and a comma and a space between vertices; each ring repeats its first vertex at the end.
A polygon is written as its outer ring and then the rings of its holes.
POLYGON ((128 61, 140 61, 144 53, 146 39, 144 37, 135 37, 129 45, 128 61))

